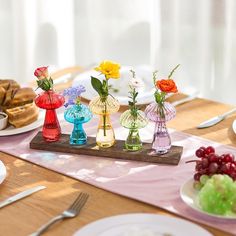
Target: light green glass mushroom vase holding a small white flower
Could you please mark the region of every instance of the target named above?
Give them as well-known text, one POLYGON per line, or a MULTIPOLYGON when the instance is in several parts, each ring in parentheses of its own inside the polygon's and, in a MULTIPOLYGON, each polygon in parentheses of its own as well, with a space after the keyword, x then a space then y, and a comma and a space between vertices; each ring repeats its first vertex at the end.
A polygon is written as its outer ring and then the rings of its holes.
POLYGON ((125 149, 128 151, 138 151, 142 149, 142 141, 139 136, 139 129, 148 124, 145 114, 138 110, 137 116, 133 116, 131 110, 127 110, 120 116, 120 124, 129 129, 128 137, 125 140, 125 149))

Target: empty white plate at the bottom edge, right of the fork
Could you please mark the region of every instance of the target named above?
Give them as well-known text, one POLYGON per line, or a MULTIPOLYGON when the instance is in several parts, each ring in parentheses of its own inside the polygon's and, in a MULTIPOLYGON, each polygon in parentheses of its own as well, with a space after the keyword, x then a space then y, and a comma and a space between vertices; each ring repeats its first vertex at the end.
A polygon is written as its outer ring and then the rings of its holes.
POLYGON ((126 214, 95 221, 74 236, 210 236, 189 221, 156 214, 126 214), (166 234, 165 234, 166 233, 166 234))

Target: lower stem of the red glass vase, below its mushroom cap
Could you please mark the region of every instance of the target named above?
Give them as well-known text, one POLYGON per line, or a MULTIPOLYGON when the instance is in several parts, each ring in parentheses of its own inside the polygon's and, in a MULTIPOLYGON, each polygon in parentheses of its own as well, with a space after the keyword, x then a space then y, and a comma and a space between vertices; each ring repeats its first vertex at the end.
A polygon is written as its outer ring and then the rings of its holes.
POLYGON ((55 109, 46 110, 42 135, 47 142, 59 140, 61 136, 61 127, 55 109))

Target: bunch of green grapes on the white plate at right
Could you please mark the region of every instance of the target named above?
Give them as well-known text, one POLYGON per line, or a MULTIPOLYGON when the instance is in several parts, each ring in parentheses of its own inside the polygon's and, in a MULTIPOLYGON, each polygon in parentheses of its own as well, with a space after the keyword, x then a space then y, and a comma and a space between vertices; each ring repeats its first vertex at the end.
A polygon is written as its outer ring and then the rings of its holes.
POLYGON ((198 200, 206 212, 230 215, 236 210, 236 183, 228 175, 213 175, 199 191, 198 200))

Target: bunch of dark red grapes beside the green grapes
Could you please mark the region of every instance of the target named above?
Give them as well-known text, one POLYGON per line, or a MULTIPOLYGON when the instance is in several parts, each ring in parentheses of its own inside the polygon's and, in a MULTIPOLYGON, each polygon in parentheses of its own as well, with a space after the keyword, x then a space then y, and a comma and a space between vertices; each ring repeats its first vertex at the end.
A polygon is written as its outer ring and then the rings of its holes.
POLYGON ((236 180, 236 160, 234 155, 226 153, 218 155, 212 146, 200 147, 195 152, 199 160, 196 160, 194 180, 200 181, 201 176, 214 174, 226 174, 236 180))

